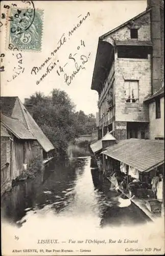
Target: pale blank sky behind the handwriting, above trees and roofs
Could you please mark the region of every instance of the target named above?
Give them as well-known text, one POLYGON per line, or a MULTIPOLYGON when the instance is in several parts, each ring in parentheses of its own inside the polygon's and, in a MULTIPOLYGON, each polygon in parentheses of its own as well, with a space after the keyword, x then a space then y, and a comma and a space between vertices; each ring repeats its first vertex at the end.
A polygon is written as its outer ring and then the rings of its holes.
MULTIPOLYGON (((40 10, 42 19, 39 25, 34 24, 42 31, 39 36, 41 50, 21 51, 20 47, 18 51, 9 50, 8 45, 13 43, 9 34, 10 22, 3 20, 1 53, 5 54, 3 58, 5 72, 1 72, 1 96, 18 96, 24 102, 24 98, 30 97, 36 91, 49 95, 57 88, 69 95, 76 104, 77 111, 96 114, 98 93, 90 88, 99 36, 145 11, 147 1, 33 2, 35 10, 40 10), (80 24, 80 20, 83 20, 81 25, 73 33, 69 33, 80 24), (59 50, 51 55, 60 43, 59 50), (48 59, 50 57, 51 59, 48 59), (46 59, 48 61, 45 63, 46 59), (37 72, 37 68, 39 69, 41 65, 44 67, 37 72), (33 69, 33 67, 37 68, 33 69), (47 69, 49 71, 46 71, 47 69), (68 85, 69 76, 75 70, 79 72, 68 85), (48 74, 37 84, 46 72, 48 74)), ((7 1, 7 3, 11 7, 13 2, 7 1)), ((23 9, 21 2, 16 1, 16 4, 23 9)), ((3 11, 6 12, 6 9, 3 11)), ((26 34, 23 33, 22 36, 26 34)), ((20 38, 20 45, 21 40, 23 37, 20 38)), ((32 42, 32 37, 28 40, 32 42)))

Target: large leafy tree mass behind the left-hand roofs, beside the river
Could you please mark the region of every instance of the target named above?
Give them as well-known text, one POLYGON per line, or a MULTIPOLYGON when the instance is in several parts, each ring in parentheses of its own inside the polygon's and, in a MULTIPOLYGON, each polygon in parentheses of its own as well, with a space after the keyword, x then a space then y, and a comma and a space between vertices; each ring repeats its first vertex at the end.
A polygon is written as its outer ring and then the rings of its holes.
POLYGON ((36 92, 29 103, 33 104, 34 120, 55 146, 57 157, 65 154, 68 142, 96 129, 95 116, 85 115, 81 110, 75 112, 75 104, 59 89, 54 89, 49 96, 36 92))

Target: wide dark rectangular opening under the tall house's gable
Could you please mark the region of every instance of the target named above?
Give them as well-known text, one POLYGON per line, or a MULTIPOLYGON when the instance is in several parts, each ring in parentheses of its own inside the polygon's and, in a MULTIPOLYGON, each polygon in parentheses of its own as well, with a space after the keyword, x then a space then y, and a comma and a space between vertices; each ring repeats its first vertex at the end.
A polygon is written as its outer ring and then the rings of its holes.
POLYGON ((152 49, 148 46, 119 46, 117 47, 118 58, 147 59, 152 49))

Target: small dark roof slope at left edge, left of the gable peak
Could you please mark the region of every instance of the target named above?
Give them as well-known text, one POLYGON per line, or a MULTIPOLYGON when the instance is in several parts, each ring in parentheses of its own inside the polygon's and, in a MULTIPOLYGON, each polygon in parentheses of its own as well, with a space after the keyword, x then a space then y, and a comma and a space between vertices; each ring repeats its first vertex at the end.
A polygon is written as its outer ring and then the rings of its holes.
POLYGON ((17 97, 1 97, 1 111, 7 115, 11 116, 17 97))

